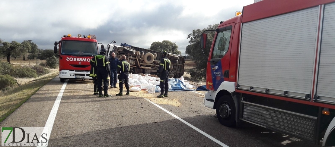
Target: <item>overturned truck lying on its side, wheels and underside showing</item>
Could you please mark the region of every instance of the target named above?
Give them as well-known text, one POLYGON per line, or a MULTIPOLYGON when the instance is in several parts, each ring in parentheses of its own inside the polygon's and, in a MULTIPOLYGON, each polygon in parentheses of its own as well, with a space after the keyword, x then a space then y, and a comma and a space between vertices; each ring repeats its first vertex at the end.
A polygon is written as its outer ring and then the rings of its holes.
MULTIPOLYGON (((135 74, 148 73, 157 75, 161 52, 150 49, 140 48, 126 43, 115 45, 115 41, 107 45, 107 56, 111 58, 112 52, 115 52, 117 58, 126 55, 127 61, 130 63, 130 72, 135 74), (112 44, 114 43, 114 44, 112 44)), ((180 78, 184 75, 185 57, 177 54, 169 53, 167 58, 171 60, 170 78, 180 78)))

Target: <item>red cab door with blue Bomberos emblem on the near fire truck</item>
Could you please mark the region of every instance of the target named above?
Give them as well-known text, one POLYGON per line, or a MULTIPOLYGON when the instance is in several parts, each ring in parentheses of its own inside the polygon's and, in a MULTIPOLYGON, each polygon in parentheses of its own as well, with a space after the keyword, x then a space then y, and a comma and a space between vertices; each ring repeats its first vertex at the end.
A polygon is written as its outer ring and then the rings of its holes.
POLYGON ((226 24, 216 32, 207 63, 207 89, 217 90, 223 81, 229 81, 229 61, 232 31, 235 23, 226 24), (209 74, 210 73, 210 74, 209 74))

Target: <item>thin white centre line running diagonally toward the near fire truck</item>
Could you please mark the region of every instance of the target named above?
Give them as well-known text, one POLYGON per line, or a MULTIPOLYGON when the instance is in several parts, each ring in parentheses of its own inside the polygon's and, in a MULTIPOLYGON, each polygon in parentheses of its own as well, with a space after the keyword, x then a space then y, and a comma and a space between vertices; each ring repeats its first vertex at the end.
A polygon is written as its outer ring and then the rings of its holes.
POLYGON ((158 107, 158 108, 160 108, 161 110, 165 111, 166 113, 168 113, 168 114, 172 115, 172 116, 173 116, 173 117, 175 117, 176 119, 180 120, 180 121, 181 121, 181 122, 183 122, 184 124, 186 124, 186 125, 190 126, 191 128, 193 128, 194 130, 198 131, 199 133, 201 133, 202 135, 206 136, 207 138, 209 138, 209 139, 213 140, 213 141, 214 141, 214 142, 216 142, 217 144, 219 144, 219 145, 221 145, 221 146, 223 146, 223 147, 229 147, 229 146, 225 145, 224 143, 222 143, 222 142, 218 141, 218 140, 217 140, 217 139, 215 139, 214 137, 212 137, 212 136, 208 135, 207 133, 205 133, 205 132, 201 131, 201 130, 200 130, 200 129, 198 129, 197 127, 194 127, 194 126, 193 126, 193 125, 191 125, 190 123, 188 123, 188 122, 184 121, 183 119, 181 119, 180 117, 176 116, 175 114, 173 114, 173 113, 171 113, 171 112, 167 111, 166 109, 164 109, 164 108, 160 107, 159 105, 157 105, 156 103, 154 103, 154 102, 150 101, 149 99, 147 99, 147 98, 144 98, 144 99, 145 99, 145 100, 147 100, 148 102, 150 102, 151 104, 153 104, 153 105, 157 106, 157 107, 158 107))

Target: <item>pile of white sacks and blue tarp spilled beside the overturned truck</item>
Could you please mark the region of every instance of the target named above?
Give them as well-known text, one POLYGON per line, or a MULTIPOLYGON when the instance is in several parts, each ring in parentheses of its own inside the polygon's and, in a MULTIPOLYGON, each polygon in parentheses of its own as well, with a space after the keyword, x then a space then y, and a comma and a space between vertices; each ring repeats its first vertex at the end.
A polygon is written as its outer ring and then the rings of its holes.
MULTIPOLYGON (((137 75, 129 74, 129 87, 131 92, 139 92, 141 90, 148 93, 160 92, 160 79, 149 74, 137 75)), ((179 79, 169 79, 169 91, 195 91, 193 88, 198 86, 190 84, 189 81, 184 80, 184 77, 179 79)))

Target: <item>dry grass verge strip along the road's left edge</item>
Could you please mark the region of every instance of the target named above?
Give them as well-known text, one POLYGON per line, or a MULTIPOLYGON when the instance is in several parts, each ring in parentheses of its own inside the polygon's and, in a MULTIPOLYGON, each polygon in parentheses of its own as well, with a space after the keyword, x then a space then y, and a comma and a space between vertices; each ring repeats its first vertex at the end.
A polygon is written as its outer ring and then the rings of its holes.
POLYGON ((0 96, 0 122, 57 75, 58 73, 52 73, 35 81, 2 92, 2 96, 0 96))

